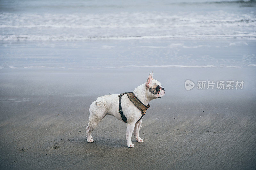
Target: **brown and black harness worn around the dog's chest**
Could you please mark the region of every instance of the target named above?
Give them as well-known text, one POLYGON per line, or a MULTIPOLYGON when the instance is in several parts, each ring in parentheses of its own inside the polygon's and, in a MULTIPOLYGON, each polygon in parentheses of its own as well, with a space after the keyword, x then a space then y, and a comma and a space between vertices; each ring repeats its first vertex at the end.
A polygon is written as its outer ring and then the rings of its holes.
MULTIPOLYGON (((136 96, 133 92, 126 92, 126 93, 122 93, 122 94, 119 94, 118 97, 119 97, 119 113, 122 117, 122 120, 127 123, 127 119, 126 117, 124 116, 124 113, 122 111, 122 106, 121 106, 121 99, 122 99, 122 96, 124 94, 127 94, 129 100, 132 102, 132 104, 134 106, 136 106, 138 109, 140 109, 141 113, 142 113, 142 116, 140 117, 140 119, 145 115, 146 113, 146 110, 150 107, 149 106, 149 103, 148 103, 148 106, 144 105, 136 96)), ((139 122, 140 119, 137 121, 139 122)))

